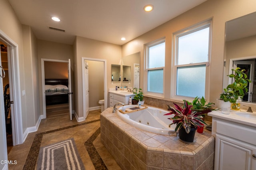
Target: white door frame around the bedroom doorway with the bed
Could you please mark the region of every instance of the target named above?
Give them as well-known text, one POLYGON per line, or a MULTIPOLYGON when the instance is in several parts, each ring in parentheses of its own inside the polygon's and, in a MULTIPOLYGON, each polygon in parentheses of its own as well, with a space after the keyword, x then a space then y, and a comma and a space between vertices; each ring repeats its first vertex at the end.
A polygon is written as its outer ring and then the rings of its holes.
MULTIPOLYGON (((60 62, 60 63, 68 63, 68 60, 60 60, 60 59, 46 59, 41 58, 41 74, 42 74, 42 98, 43 98, 43 115, 41 115, 42 119, 46 119, 46 101, 45 101, 45 76, 44 76, 44 61, 51 61, 51 62, 60 62)), ((71 103, 72 104, 72 103, 71 103)))

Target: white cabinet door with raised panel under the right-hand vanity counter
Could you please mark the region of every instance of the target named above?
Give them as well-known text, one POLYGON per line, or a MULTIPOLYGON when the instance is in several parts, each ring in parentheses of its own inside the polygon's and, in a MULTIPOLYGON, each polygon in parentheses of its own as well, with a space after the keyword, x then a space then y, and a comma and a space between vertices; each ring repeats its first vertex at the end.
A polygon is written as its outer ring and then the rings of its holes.
POLYGON ((216 134, 215 170, 255 170, 256 146, 216 134))

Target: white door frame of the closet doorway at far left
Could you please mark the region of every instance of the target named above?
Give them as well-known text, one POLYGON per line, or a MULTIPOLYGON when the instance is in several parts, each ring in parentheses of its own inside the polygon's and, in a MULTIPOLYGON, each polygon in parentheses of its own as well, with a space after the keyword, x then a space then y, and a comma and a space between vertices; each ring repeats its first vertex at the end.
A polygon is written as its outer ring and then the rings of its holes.
MULTIPOLYGON (((8 67, 10 67, 10 97, 13 98, 13 106, 11 106, 12 117, 12 140, 13 146, 23 143, 23 127, 22 127, 22 109, 20 96, 20 67, 18 56, 18 44, 0 30, 0 39, 8 46, 8 67)), ((5 124, 5 122, 4 122, 5 124)))

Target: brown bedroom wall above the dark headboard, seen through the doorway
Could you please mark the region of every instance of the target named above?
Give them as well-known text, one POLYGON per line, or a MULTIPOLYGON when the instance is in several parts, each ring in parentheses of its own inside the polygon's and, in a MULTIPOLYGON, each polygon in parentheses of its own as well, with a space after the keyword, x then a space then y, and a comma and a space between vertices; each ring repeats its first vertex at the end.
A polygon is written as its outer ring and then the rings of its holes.
POLYGON ((45 79, 68 79, 68 63, 44 61, 45 79))

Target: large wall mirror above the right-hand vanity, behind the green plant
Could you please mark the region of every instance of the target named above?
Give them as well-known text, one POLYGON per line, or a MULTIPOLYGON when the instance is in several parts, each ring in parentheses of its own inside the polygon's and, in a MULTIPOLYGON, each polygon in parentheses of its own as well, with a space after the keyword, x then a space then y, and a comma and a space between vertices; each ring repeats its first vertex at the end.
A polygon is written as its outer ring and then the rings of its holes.
POLYGON ((256 12, 226 22, 223 88, 232 83, 232 68, 246 69, 252 83, 244 102, 256 103, 256 12))

